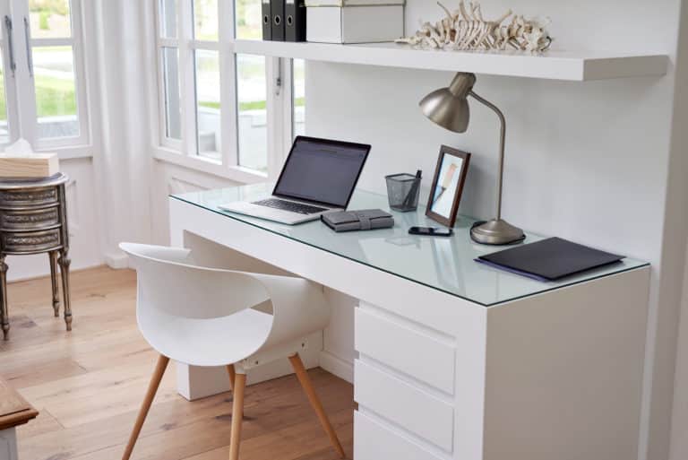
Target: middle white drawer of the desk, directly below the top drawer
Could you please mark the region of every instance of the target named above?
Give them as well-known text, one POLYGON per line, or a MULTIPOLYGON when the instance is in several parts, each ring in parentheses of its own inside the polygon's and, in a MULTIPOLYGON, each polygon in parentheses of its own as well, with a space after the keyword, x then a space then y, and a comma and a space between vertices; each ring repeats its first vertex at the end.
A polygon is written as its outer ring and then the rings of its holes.
POLYGON ((452 405, 361 360, 355 366, 354 399, 358 404, 452 452, 452 405))

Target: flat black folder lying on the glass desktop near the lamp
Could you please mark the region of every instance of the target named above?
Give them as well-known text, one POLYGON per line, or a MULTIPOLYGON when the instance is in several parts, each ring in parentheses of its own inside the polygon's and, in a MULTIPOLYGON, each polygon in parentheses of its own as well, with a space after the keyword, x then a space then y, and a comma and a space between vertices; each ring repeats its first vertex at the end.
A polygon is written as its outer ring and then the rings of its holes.
POLYGON ((548 238, 479 256, 476 260, 538 280, 555 281, 591 268, 614 264, 623 258, 566 239, 548 238))

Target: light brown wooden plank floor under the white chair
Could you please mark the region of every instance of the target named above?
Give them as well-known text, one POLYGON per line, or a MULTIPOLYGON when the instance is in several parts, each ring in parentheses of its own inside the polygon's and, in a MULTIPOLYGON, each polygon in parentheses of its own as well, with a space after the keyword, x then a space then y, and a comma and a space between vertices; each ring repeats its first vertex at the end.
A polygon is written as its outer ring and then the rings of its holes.
MULTIPOLYGON (((128 270, 73 273, 68 334, 53 317, 49 279, 10 284, 12 329, 0 343, 0 375, 40 412, 19 430, 21 460, 121 457, 157 358, 136 328, 135 290, 128 270)), ((309 374, 350 458, 352 386, 322 369, 309 374)), ((245 398, 242 460, 338 458, 294 376, 249 386, 245 398)), ((189 403, 168 369, 132 458, 227 459, 231 399, 189 403)))

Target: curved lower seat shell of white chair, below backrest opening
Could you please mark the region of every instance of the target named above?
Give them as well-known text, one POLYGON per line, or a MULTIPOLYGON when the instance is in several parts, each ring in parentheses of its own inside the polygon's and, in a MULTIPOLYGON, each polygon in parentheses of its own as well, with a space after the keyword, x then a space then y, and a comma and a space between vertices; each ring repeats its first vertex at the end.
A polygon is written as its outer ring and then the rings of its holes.
POLYGON ((155 350, 191 366, 224 366, 243 360, 262 347, 272 327, 271 315, 252 308, 211 319, 139 308, 137 319, 143 336, 155 350))

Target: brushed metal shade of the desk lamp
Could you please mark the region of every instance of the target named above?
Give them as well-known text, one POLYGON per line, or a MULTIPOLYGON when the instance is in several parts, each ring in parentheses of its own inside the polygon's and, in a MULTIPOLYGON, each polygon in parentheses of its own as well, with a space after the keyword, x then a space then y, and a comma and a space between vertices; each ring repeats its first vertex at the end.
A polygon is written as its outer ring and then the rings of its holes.
POLYGON ((466 98, 476 82, 474 74, 459 73, 448 88, 428 94, 420 101, 420 109, 436 125, 454 133, 465 133, 469 128, 470 108, 466 98))

